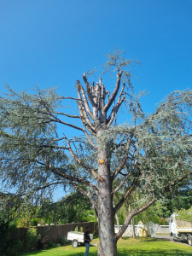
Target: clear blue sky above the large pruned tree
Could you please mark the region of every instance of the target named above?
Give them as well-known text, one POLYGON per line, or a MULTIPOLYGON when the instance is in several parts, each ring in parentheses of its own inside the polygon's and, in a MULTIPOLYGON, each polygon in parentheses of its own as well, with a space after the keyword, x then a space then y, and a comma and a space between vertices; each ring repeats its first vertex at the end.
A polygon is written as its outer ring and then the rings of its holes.
POLYGON ((191 88, 191 0, 0 0, 0 35, 2 90, 38 84, 74 96, 76 79, 114 48, 141 61, 133 84, 150 92, 145 111, 191 88))

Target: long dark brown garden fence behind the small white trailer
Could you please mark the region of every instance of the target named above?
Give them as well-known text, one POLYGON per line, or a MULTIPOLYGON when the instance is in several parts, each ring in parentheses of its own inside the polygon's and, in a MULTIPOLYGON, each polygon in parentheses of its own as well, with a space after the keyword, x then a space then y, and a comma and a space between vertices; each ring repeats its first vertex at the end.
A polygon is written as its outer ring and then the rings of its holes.
MULTIPOLYGON (((41 235, 41 240, 46 243, 53 241, 55 243, 61 242, 61 237, 67 237, 67 232, 74 231, 78 226, 79 230, 81 227, 85 230, 87 226, 90 227, 90 233, 98 235, 98 224, 93 222, 84 223, 73 223, 73 224, 61 224, 61 225, 49 225, 49 226, 36 226, 38 234, 41 235)), ((14 240, 25 241, 26 231, 28 228, 18 228, 15 230, 12 238, 14 240)))

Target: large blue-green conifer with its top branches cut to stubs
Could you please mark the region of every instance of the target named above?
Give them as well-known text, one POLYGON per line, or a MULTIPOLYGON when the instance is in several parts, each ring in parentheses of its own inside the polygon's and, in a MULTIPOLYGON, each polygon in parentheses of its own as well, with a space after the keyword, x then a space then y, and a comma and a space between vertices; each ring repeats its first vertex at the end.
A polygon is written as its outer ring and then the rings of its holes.
POLYGON ((116 74, 112 92, 101 77, 90 83, 90 73, 84 73, 83 83, 76 83, 77 97, 57 96, 55 90, 37 89, 30 95, 9 89, 0 99, 2 183, 18 188, 20 195, 58 184, 86 195, 98 215, 99 256, 117 255, 117 241, 131 218, 192 172, 192 91, 175 91, 154 113, 144 114, 141 94, 136 96, 131 86, 134 61, 121 54, 108 55, 104 66, 103 73, 116 74), (67 100, 76 102, 79 115, 63 111, 67 100), (128 122, 118 125, 123 105, 128 122), (82 135, 67 137, 65 127, 82 135), (115 234, 115 213, 136 190, 139 204, 115 234), (124 194, 113 204, 119 191, 124 194))

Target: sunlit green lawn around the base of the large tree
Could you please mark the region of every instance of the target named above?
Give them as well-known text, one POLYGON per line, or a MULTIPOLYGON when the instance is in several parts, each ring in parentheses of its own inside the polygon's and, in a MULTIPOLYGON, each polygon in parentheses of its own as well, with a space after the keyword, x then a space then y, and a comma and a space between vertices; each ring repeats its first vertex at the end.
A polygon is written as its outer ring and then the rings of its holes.
MULTIPOLYGON (((96 239, 94 243, 98 243, 96 239)), ((97 247, 90 247, 90 256, 96 256, 97 247)), ((56 247, 49 250, 35 251, 22 256, 84 256, 84 247, 73 248, 72 245, 56 247)), ((192 247, 183 243, 163 241, 154 238, 127 238, 118 242, 118 256, 180 256, 192 255, 192 247)))

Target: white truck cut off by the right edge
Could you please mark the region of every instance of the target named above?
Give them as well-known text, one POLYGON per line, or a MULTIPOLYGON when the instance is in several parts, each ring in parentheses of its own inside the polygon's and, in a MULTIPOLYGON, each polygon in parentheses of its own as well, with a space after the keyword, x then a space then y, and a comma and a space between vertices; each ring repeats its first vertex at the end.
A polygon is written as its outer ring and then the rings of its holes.
POLYGON ((178 214, 173 213, 170 218, 170 236, 173 236, 173 241, 188 241, 192 246, 192 222, 177 217, 178 214))

